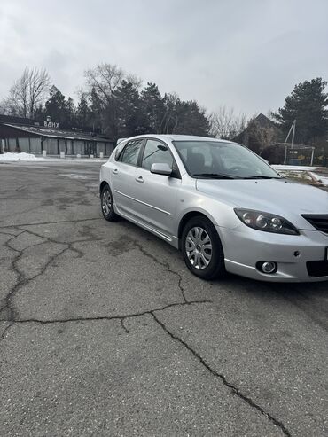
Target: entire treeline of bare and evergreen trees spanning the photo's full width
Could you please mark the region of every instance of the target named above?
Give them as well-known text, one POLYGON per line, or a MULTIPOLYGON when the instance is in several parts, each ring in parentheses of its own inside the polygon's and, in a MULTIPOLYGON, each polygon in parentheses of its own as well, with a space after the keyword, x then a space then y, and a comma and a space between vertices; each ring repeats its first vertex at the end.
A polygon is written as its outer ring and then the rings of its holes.
POLYGON ((149 132, 234 139, 246 132, 248 144, 262 152, 269 144, 284 141, 294 120, 295 143, 326 144, 326 85, 322 78, 295 85, 285 105, 269 114, 269 122, 262 122, 258 117, 247 120, 245 114, 225 106, 207 114, 196 101, 184 101, 176 93, 162 96, 155 83, 143 88, 136 76, 105 63, 85 72, 85 86, 75 105, 45 70, 26 68, 0 103, 0 112, 38 120, 49 115, 61 126, 89 127, 113 140, 149 132))

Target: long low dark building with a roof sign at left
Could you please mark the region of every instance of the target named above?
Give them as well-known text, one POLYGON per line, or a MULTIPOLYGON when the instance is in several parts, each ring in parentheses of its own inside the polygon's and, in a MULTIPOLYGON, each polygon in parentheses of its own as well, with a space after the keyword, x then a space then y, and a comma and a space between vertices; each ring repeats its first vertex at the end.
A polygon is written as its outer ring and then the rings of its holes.
POLYGON ((87 129, 61 129, 59 123, 35 121, 0 115, 0 152, 27 152, 48 155, 81 154, 82 156, 109 156, 114 142, 110 138, 95 135, 87 129))

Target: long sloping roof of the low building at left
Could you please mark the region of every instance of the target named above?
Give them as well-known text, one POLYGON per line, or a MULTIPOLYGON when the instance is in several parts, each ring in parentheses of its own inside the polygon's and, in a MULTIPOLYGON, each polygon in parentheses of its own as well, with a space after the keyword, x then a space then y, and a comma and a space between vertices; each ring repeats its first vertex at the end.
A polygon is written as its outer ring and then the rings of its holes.
POLYGON ((83 132, 80 129, 60 129, 60 128, 48 128, 43 126, 31 126, 27 124, 17 123, 2 123, 9 128, 19 129, 22 132, 33 134, 40 137, 53 137, 53 138, 66 138, 81 141, 98 141, 98 142, 111 142, 109 138, 99 137, 90 133, 83 132))

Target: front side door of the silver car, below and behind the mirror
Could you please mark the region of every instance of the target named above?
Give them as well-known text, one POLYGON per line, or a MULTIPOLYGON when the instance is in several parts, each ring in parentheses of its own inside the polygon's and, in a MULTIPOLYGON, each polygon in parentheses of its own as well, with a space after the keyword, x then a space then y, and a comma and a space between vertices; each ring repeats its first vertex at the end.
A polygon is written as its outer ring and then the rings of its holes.
POLYGON ((135 214, 141 222, 165 236, 174 234, 177 192, 181 187, 176 162, 168 145, 156 139, 147 139, 136 168, 135 214), (154 175, 153 163, 166 163, 174 169, 173 176, 154 175))

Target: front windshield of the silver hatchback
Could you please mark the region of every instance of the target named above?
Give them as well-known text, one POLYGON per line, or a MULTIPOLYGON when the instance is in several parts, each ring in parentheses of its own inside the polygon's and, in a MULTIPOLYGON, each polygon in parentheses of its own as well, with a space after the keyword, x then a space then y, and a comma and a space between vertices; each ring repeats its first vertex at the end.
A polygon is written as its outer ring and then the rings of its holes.
POLYGON ((277 172, 240 144, 220 141, 174 141, 192 177, 204 179, 271 179, 277 172))

